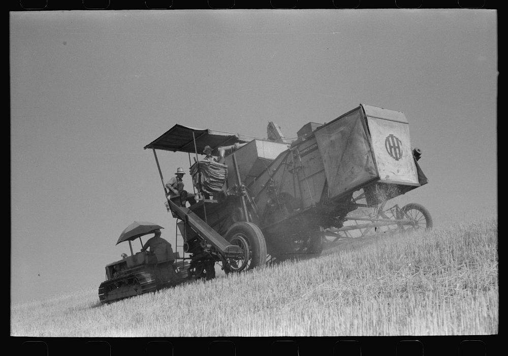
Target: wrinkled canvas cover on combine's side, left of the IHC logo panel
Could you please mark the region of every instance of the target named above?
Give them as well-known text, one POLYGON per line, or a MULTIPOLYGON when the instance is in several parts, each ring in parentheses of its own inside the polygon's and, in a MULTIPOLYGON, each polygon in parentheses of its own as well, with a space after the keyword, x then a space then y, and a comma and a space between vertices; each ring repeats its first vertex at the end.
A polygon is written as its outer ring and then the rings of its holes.
POLYGON ((338 198, 378 179, 362 108, 314 132, 328 182, 328 196, 338 198))

